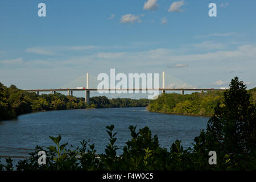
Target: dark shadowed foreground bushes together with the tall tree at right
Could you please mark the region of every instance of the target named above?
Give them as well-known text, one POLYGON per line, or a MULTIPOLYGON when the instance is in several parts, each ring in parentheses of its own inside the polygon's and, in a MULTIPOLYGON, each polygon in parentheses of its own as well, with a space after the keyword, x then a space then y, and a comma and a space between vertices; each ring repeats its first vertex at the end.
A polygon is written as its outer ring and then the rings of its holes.
MULTIPOLYGON (((51 137, 54 146, 36 146, 30 158, 19 160, 17 171, 255 171, 256 170, 256 107, 250 93, 238 77, 223 93, 223 101, 214 107, 207 129, 195 137, 193 147, 184 149, 181 140, 170 150, 160 147, 157 135, 151 136, 145 126, 129 126, 131 139, 122 148, 115 144, 118 134, 114 125, 106 126, 109 143, 104 154, 97 154, 94 143, 86 140, 68 148, 61 136, 51 137), (44 151, 46 162, 42 164, 44 151), (80 158, 77 158, 80 156, 80 158)), ((156 121, 157 122, 157 121, 156 121)), ((57 130, 57 129, 56 129, 57 130)), ((71 145, 72 146, 72 145, 71 145)), ((0 171, 13 171, 13 159, 0 162, 0 171)))

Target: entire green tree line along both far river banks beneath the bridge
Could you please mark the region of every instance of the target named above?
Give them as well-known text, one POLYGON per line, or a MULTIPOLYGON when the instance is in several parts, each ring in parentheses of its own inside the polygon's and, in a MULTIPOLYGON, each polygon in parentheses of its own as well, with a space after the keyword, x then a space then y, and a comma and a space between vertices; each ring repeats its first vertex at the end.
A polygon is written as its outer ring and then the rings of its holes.
MULTIPOLYGON (((247 90, 250 101, 256 103, 256 88, 247 90)), ((9 88, 0 82, 0 121, 16 119, 18 115, 36 111, 98 109, 113 107, 146 107, 148 111, 165 114, 179 114, 210 117, 218 102, 223 103, 224 91, 194 92, 191 94, 165 93, 156 100, 141 98, 113 98, 105 96, 90 98, 90 105, 85 98, 65 96, 61 93, 41 94, 29 93, 10 85, 9 88)))

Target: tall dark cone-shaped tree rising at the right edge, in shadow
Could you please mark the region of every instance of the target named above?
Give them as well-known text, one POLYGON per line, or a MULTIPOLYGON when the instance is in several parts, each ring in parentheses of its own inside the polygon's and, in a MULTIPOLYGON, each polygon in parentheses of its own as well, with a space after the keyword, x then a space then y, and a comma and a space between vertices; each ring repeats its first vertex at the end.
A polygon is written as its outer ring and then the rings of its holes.
POLYGON ((207 126, 209 147, 225 154, 252 154, 256 148, 255 106, 242 81, 235 77, 224 101, 218 103, 207 126))

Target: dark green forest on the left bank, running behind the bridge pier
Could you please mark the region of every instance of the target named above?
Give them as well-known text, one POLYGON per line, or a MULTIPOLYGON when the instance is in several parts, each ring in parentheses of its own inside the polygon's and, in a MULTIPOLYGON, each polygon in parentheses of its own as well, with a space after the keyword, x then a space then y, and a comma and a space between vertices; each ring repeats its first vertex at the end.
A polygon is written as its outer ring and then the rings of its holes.
POLYGON ((90 105, 85 98, 65 96, 61 93, 41 94, 30 93, 10 85, 9 88, 0 82, 0 121, 14 119, 20 114, 32 111, 89 109, 110 107, 146 107, 147 99, 133 100, 130 98, 113 98, 105 96, 90 98, 90 105))

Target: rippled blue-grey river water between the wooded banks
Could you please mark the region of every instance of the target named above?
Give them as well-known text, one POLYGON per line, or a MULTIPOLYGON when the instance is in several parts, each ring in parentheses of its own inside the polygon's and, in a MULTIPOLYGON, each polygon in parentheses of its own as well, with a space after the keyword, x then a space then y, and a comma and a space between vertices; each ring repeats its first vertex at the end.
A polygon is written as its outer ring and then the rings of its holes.
MULTIPOLYGON (((176 139, 184 148, 192 147, 193 139, 207 127, 207 117, 150 113, 145 107, 83 109, 38 112, 20 115, 18 119, 0 122, 0 156, 20 158, 39 146, 55 145, 48 136, 62 139, 60 143, 80 146, 82 139, 95 143, 98 154, 108 144, 106 126, 114 125, 117 146, 122 148, 131 139, 129 125, 138 129, 148 126, 158 135, 160 146, 170 150, 176 139)), ((118 154, 122 150, 117 151, 118 154)))

